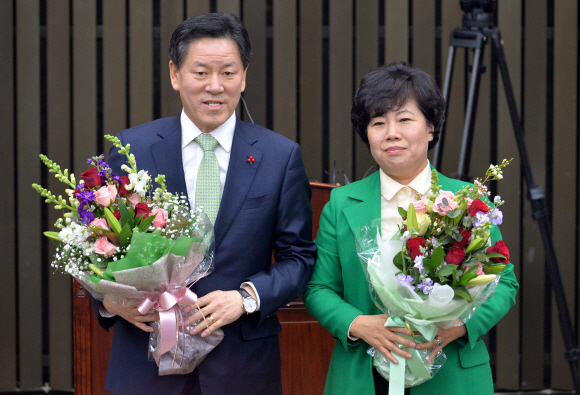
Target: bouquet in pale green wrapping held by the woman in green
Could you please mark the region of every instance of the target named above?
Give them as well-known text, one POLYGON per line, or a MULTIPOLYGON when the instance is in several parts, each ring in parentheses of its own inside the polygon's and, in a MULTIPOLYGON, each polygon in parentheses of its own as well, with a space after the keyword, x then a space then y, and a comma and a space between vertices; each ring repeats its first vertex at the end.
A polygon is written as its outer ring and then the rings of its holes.
MULTIPOLYGON (((399 208, 403 222, 389 240, 380 235, 380 218, 355 231, 371 298, 389 314, 385 326, 407 327, 409 338, 431 342, 439 328, 463 325, 493 295, 509 250, 501 240, 491 245, 490 231, 502 223, 498 207, 504 202, 496 196, 491 204, 485 183, 503 178, 509 162, 491 165, 484 180, 456 193, 441 190, 433 170, 426 201, 399 208)), ((400 391, 429 380, 445 362, 443 351, 430 363, 432 349, 408 351, 413 358, 397 356, 400 363, 390 364, 369 350, 378 372, 400 391)))

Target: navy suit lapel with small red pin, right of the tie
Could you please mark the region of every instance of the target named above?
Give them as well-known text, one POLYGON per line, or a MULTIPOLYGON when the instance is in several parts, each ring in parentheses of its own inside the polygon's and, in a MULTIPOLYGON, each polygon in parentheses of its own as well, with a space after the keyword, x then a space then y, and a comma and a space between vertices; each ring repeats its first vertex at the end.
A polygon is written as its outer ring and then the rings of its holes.
POLYGON ((247 124, 236 118, 226 184, 215 222, 216 248, 221 244, 238 215, 256 171, 260 167, 262 152, 253 146, 257 141, 257 134, 247 124), (255 159, 253 164, 248 163, 250 155, 255 159))

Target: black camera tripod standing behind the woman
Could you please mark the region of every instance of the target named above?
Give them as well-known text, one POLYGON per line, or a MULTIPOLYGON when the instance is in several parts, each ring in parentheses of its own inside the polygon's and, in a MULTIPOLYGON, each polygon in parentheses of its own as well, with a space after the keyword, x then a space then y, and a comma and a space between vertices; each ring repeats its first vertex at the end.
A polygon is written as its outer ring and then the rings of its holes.
MULTIPOLYGON (((464 17, 464 25, 465 25, 465 17, 464 17)), ((564 357, 570 365, 572 381, 574 383, 576 394, 580 394, 580 380, 578 378, 578 358, 580 356, 580 350, 578 349, 578 346, 576 344, 576 339, 572 328, 572 322, 570 320, 570 313, 568 311, 568 306, 566 304, 566 297, 562 286, 562 278, 560 275, 558 262, 556 260, 556 252, 554 249, 554 244, 551 236, 546 202, 541 187, 538 187, 534 184, 532 169, 528 159, 528 152, 524 140, 522 124, 518 115, 516 100, 514 97, 510 76, 508 73, 507 61, 503 50, 501 34, 500 31, 497 28, 494 28, 493 26, 484 26, 484 27, 475 26, 471 28, 465 28, 464 26, 463 29, 455 29, 451 33, 451 39, 449 43, 449 56, 447 59, 447 69, 445 72, 445 82, 443 87, 443 96, 445 98, 445 103, 449 103, 448 99, 451 88, 455 49, 465 48, 466 51, 470 49, 474 50, 473 67, 467 99, 467 108, 465 111, 463 139, 459 158, 459 167, 457 172, 458 178, 464 181, 467 181, 469 178, 467 174, 469 171, 469 160, 473 142, 473 128, 475 123, 475 111, 477 106, 479 81, 480 75, 484 71, 484 68, 482 66, 483 50, 488 40, 491 41, 492 43, 492 51, 497 60, 497 67, 501 72, 501 78, 503 82, 505 95, 507 98, 510 118, 512 121, 512 127, 514 130, 518 152, 522 162, 522 170, 526 181, 527 198, 532 206, 532 217, 535 221, 538 222, 538 225, 540 227, 542 243, 544 245, 544 250, 546 254, 545 256, 546 268, 550 278, 552 290, 554 291, 554 297, 558 308, 558 320, 560 322, 560 328, 564 340, 565 346, 564 357)), ((446 106, 448 107, 448 104, 446 104, 446 106)), ((439 144, 437 144, 435 148, 433 158, 433 165, 435 166, 435 168, 439 168, 441 157, 443 155, 443 142, 445 137, 444 127, 445 126, 443 126, 443 129, 441 130, 439 144)))

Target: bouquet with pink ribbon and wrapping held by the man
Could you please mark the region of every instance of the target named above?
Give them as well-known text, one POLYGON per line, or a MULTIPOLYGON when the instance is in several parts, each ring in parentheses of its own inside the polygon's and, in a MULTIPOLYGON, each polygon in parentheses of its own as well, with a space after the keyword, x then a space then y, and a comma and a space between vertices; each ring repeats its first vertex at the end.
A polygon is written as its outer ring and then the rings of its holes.
POLYGON ((167 191, 165 176, 155 178, 153 191, 151 177, 137 170, 129 145, 105 137, 127 157, 122 169, 128 175, 113 174, 100 155, 87 161, 92 167, 76 184, 74 174, 40 155, 49 172, 69 187, 65 200, 32 185, 46 203, 65 211, 55 224, 60 231, 44 232, 57 244, 52 266, 98 300, 109 295, 113 303, 140 303, 142 314, 158 310, 150 357, 159 375, 189 373, 223 339, 219 329, 206 338, 190 335, 183 322, 194 312, 186 315, 181 309, 197 303, 188 286, 213 270, 213 226, 199 207, 190 210, 186 196, 167 191))

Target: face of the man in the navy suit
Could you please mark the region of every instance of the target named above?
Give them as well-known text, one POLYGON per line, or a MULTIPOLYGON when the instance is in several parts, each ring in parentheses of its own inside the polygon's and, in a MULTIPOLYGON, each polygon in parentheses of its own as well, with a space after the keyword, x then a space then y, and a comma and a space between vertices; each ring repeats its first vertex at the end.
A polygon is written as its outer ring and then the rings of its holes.
POLYGON ((195 40, 179 69, 169 62, 171 85, 179 91, 185 115, 204 133, 234 113, 246 87, 246 70, 236 43, 227 38, 195 40))

